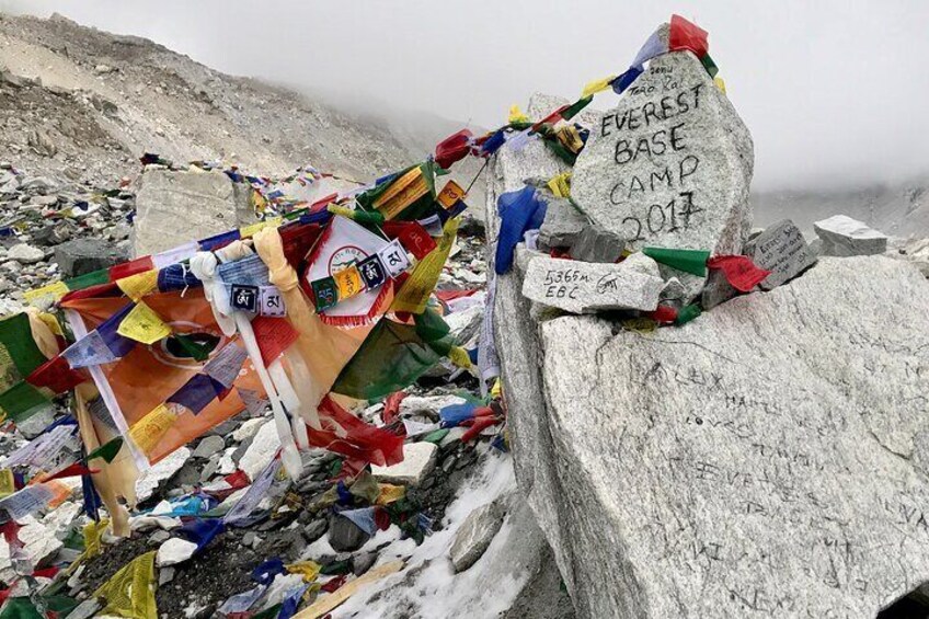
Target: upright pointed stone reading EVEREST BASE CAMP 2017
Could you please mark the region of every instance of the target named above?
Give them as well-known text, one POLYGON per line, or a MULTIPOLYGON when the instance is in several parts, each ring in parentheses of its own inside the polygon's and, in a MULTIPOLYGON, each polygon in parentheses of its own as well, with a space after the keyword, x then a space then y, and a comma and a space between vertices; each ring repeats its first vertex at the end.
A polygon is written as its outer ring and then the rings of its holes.
POLYGON ((752 136, 735 108, 696 56, 677 51, 652 60, 600 116, 571 197, 632 250, 737 254, 750 228, 753 169, 752 136))

